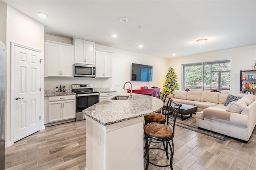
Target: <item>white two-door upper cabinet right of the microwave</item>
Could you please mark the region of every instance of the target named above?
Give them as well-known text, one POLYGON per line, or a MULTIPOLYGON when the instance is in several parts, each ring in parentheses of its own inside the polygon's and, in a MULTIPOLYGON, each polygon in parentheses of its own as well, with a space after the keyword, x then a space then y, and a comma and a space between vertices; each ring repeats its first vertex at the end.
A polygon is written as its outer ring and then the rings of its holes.
POLYGON ((96 51, 96 78, 112 77, 112 53, 96 51))

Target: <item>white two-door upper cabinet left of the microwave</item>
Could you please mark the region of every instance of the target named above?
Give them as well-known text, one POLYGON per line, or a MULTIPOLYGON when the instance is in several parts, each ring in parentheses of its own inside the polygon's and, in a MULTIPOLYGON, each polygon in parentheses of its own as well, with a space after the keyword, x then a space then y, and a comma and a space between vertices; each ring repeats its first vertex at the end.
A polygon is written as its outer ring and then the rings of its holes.
POLYGON ((73 51, 72 44, 46 40, 44 77, 73 77, 73 51))

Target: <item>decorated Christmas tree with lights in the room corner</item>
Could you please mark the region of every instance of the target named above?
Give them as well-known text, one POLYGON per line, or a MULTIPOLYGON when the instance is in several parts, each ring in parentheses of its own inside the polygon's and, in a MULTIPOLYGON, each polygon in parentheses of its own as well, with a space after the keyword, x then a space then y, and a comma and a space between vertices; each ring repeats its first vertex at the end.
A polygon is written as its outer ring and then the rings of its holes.
POLYGON ((177 90, 177 89, 179 89, 179 85, 177 83, 177 75, 175 73, 174 68, 170 67, 168 69, 168 72, 166 73, 166 78, 164 81, 162 93, 165 95, 170 95, 173 93, 174 90, 177 90))

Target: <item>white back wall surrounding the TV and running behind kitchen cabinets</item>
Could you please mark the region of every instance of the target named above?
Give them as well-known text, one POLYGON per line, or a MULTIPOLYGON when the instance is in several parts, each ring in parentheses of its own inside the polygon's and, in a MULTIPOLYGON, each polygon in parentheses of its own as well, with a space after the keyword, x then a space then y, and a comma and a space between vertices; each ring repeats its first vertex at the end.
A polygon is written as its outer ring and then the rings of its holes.
MULTIPOLYGON (((47 40, 68 43, 66 38, 51 36, 45 34, 47 40)), ((152 55, 126 51, 113 47, 96 44, 97 50, 113 52, 112 58, 112 78, 110 79, 95 79, 90 77, 73 77, 73 78, 44 78, 45 89, 55 89, 64 83, 67 89, 71 89, 71 85, 75 83, 93 83, 94 87, 110 87, 111 90, 117 90, 118 93, 125 93, 122 89, 124 82, 130 81, 130 65, 131 63, 139 63, 145 65, 153 65, 153 81, 152 82, 138 82, 132 81, 132 89, 140 89, 140 86, 157 86, 162 88, 166 73, 168 71, 168 59, 155 57, 152 55), (118 83, 119 85, 115 85, 118 83)), ((128 87, 128 85, 126 85, 128 87)))

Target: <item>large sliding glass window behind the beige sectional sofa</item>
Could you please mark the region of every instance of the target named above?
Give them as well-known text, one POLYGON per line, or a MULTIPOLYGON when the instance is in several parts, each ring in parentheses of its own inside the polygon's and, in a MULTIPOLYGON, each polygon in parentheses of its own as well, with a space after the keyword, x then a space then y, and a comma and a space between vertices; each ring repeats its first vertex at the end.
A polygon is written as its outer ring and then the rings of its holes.
POLYGON ((182 65, 182 90, 230 92, 230 60, 182 65))

